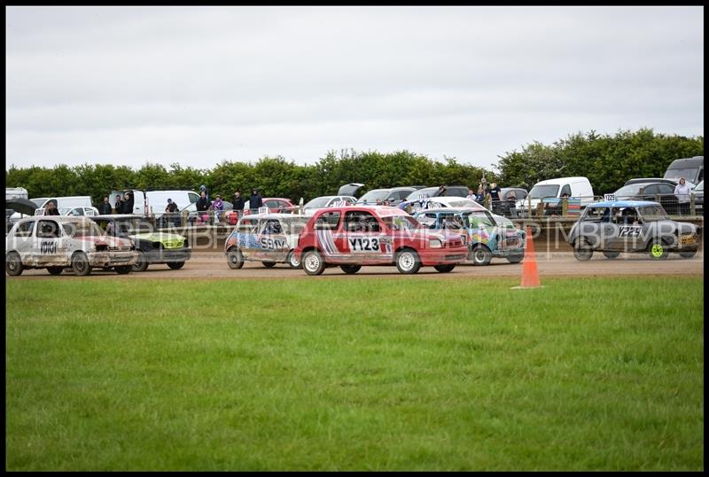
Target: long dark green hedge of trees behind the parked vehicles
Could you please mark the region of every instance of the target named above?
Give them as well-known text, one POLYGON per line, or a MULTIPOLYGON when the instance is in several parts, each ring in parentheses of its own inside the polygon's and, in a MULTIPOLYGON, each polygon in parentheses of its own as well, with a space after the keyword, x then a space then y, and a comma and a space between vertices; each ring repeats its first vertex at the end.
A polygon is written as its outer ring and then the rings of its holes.
POLYGON ((205 184, 214 197, 229 200, 239 189, 248 195, 259 188, 264 197, 308 201, 337 193, 342 184, 362 183, 367 189, 396 185, 479 184, 483 175, 501 186, 531 188, 536 182, 562 176, 586 176, 600 195, 613 192, 631 177, 661 177, 675 159, 704 154, 704 137, 656 134, 652 129, 598 135, 578 132, 543 145, 537 141, 521 151, 498 156, 493 168, 479 168, 456 158, 433 160, 407 150, 397 152, 330 151, 311 165, 299 165, 282 156, 255 162, 223 160, 214 168, 169 168, 147 162, 135 170, 127 166, 83 164, 69 168, 12 166, 5 186, 24 187, 29 197, 90 195, 95 203, 113 190, 199 190, 205 184))

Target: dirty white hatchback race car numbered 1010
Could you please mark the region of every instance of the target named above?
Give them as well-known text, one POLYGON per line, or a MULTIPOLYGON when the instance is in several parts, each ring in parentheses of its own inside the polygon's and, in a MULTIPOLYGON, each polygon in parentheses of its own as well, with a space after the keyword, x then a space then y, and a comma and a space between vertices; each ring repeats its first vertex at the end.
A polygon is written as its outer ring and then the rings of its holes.
POLYGON ((59 275, 71 268, 89 275, 93 267, 126 274, 136 263, 136 247, 126 238, 106 236, 86 217, 36 215, 20 219, 5 238, 5 272, 47 269, 59 275))

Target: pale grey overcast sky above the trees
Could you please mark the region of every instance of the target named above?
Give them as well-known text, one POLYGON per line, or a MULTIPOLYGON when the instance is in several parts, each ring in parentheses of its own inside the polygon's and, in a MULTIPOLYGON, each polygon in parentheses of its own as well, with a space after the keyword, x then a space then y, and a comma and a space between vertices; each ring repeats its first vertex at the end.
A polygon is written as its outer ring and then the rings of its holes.
POLYGON ((6 8, 6 164, 704 135, 703 7, 6 8))

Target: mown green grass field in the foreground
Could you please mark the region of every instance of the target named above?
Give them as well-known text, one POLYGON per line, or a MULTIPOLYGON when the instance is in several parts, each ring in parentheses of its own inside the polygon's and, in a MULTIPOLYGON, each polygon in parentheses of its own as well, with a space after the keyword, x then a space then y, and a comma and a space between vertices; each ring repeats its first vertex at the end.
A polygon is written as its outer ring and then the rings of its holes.
POLYGON ((703 470, 703 278, 6 283, 7 470, 703 470))

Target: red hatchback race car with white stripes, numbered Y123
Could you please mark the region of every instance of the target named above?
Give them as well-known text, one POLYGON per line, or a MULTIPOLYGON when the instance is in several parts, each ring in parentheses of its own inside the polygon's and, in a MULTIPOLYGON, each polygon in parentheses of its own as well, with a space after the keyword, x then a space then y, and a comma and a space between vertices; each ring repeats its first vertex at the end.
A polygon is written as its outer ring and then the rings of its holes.
POLYGON ((405 274, 432 266, 446 273, 465 261, 468 247, 461 234, 427 230, 396 207, 331 207, 310 217, 295 255, 308 275, 331 266, 351 274, 363 265, 396 265, 405 274))

